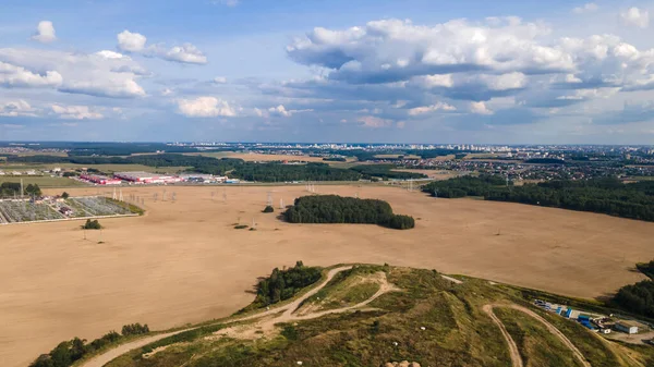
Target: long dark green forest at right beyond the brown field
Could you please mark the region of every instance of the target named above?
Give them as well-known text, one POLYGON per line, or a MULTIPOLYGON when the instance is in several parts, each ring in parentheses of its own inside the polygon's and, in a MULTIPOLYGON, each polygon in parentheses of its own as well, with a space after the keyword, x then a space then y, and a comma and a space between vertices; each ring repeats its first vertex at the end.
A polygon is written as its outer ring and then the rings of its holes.
POLYGON ((605 178, 513 186, 511 183, 507 185, 506 180, 499 176, 464 176, 429 183, 423 191, 446 198, 482 196, 487 200, 654 221, 654 182, 647 181, 625 184, 616 178, 605 178))

